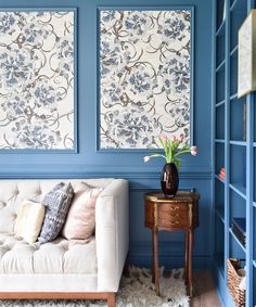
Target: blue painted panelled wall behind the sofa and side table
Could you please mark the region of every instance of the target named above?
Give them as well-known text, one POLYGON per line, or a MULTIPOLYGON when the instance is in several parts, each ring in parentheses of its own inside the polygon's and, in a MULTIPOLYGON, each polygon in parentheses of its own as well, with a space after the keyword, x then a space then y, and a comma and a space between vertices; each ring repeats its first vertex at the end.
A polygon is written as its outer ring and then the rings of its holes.
MULTIPOLYGON (((0 0, 1 8, 65 8, 78 10, 78 153, 0 153, 1 178, 120 177, 130 181, 130 252, 128 260, 150 265, 151 234, 143 226, 143 193, 159 189, 163 161, 143 163, 145 152, 97 152, 97 8, 107 5, 194 5, 194 143, 196 157, 183 156, 180 188, 201 194, 195 261, 212 254, 212 0, 0 0)), ((161 260, 178 265, 182 233, 161 233, 161 260)))

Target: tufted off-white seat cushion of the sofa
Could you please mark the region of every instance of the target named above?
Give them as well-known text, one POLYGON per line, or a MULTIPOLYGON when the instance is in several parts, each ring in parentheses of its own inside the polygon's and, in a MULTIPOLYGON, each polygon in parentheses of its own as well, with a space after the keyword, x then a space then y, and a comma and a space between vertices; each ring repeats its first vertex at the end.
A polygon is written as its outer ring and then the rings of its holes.
POLYGON ((0 233, 0 273, 97 273, 95 240, 73 244, 56 240, 28 244, 0 233))

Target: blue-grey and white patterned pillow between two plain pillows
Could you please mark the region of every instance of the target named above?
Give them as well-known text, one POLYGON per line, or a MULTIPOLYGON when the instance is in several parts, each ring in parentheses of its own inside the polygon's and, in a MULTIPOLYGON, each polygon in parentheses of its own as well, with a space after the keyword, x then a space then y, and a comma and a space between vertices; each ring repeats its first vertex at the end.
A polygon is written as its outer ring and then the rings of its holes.
POLYGON ((69 209, 74 191, 72 184, 63 182, 56 184, 43 199, 42 204, 47 207, 46 217, 38 241, 47 243, 59 235, 69 209))

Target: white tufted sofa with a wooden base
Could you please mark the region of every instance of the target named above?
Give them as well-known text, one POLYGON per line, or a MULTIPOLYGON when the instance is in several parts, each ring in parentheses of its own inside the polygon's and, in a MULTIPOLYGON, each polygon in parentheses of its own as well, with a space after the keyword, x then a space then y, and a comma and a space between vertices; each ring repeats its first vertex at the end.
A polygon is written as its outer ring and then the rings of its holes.
POLYGON ((0 299, 107 299, 115 293, 128 252, 128 182, 124 179, 0 180, 0 299), (33 245, 14 236, 18 206, 42 201, 59 182, 104 188, 95 204, 95 235, 88 244, 63 238, 33 245))

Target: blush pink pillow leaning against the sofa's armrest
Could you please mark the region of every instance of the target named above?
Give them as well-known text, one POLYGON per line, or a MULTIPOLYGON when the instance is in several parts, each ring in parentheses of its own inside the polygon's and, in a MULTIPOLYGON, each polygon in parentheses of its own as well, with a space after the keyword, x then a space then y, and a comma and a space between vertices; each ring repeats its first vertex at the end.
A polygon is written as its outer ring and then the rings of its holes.
POLYGON ((95 228, 95 202, 101 191, 85 182, 74 189, 75 195, 62 230, 64 238, 84 243, 90 241, 95 228))

